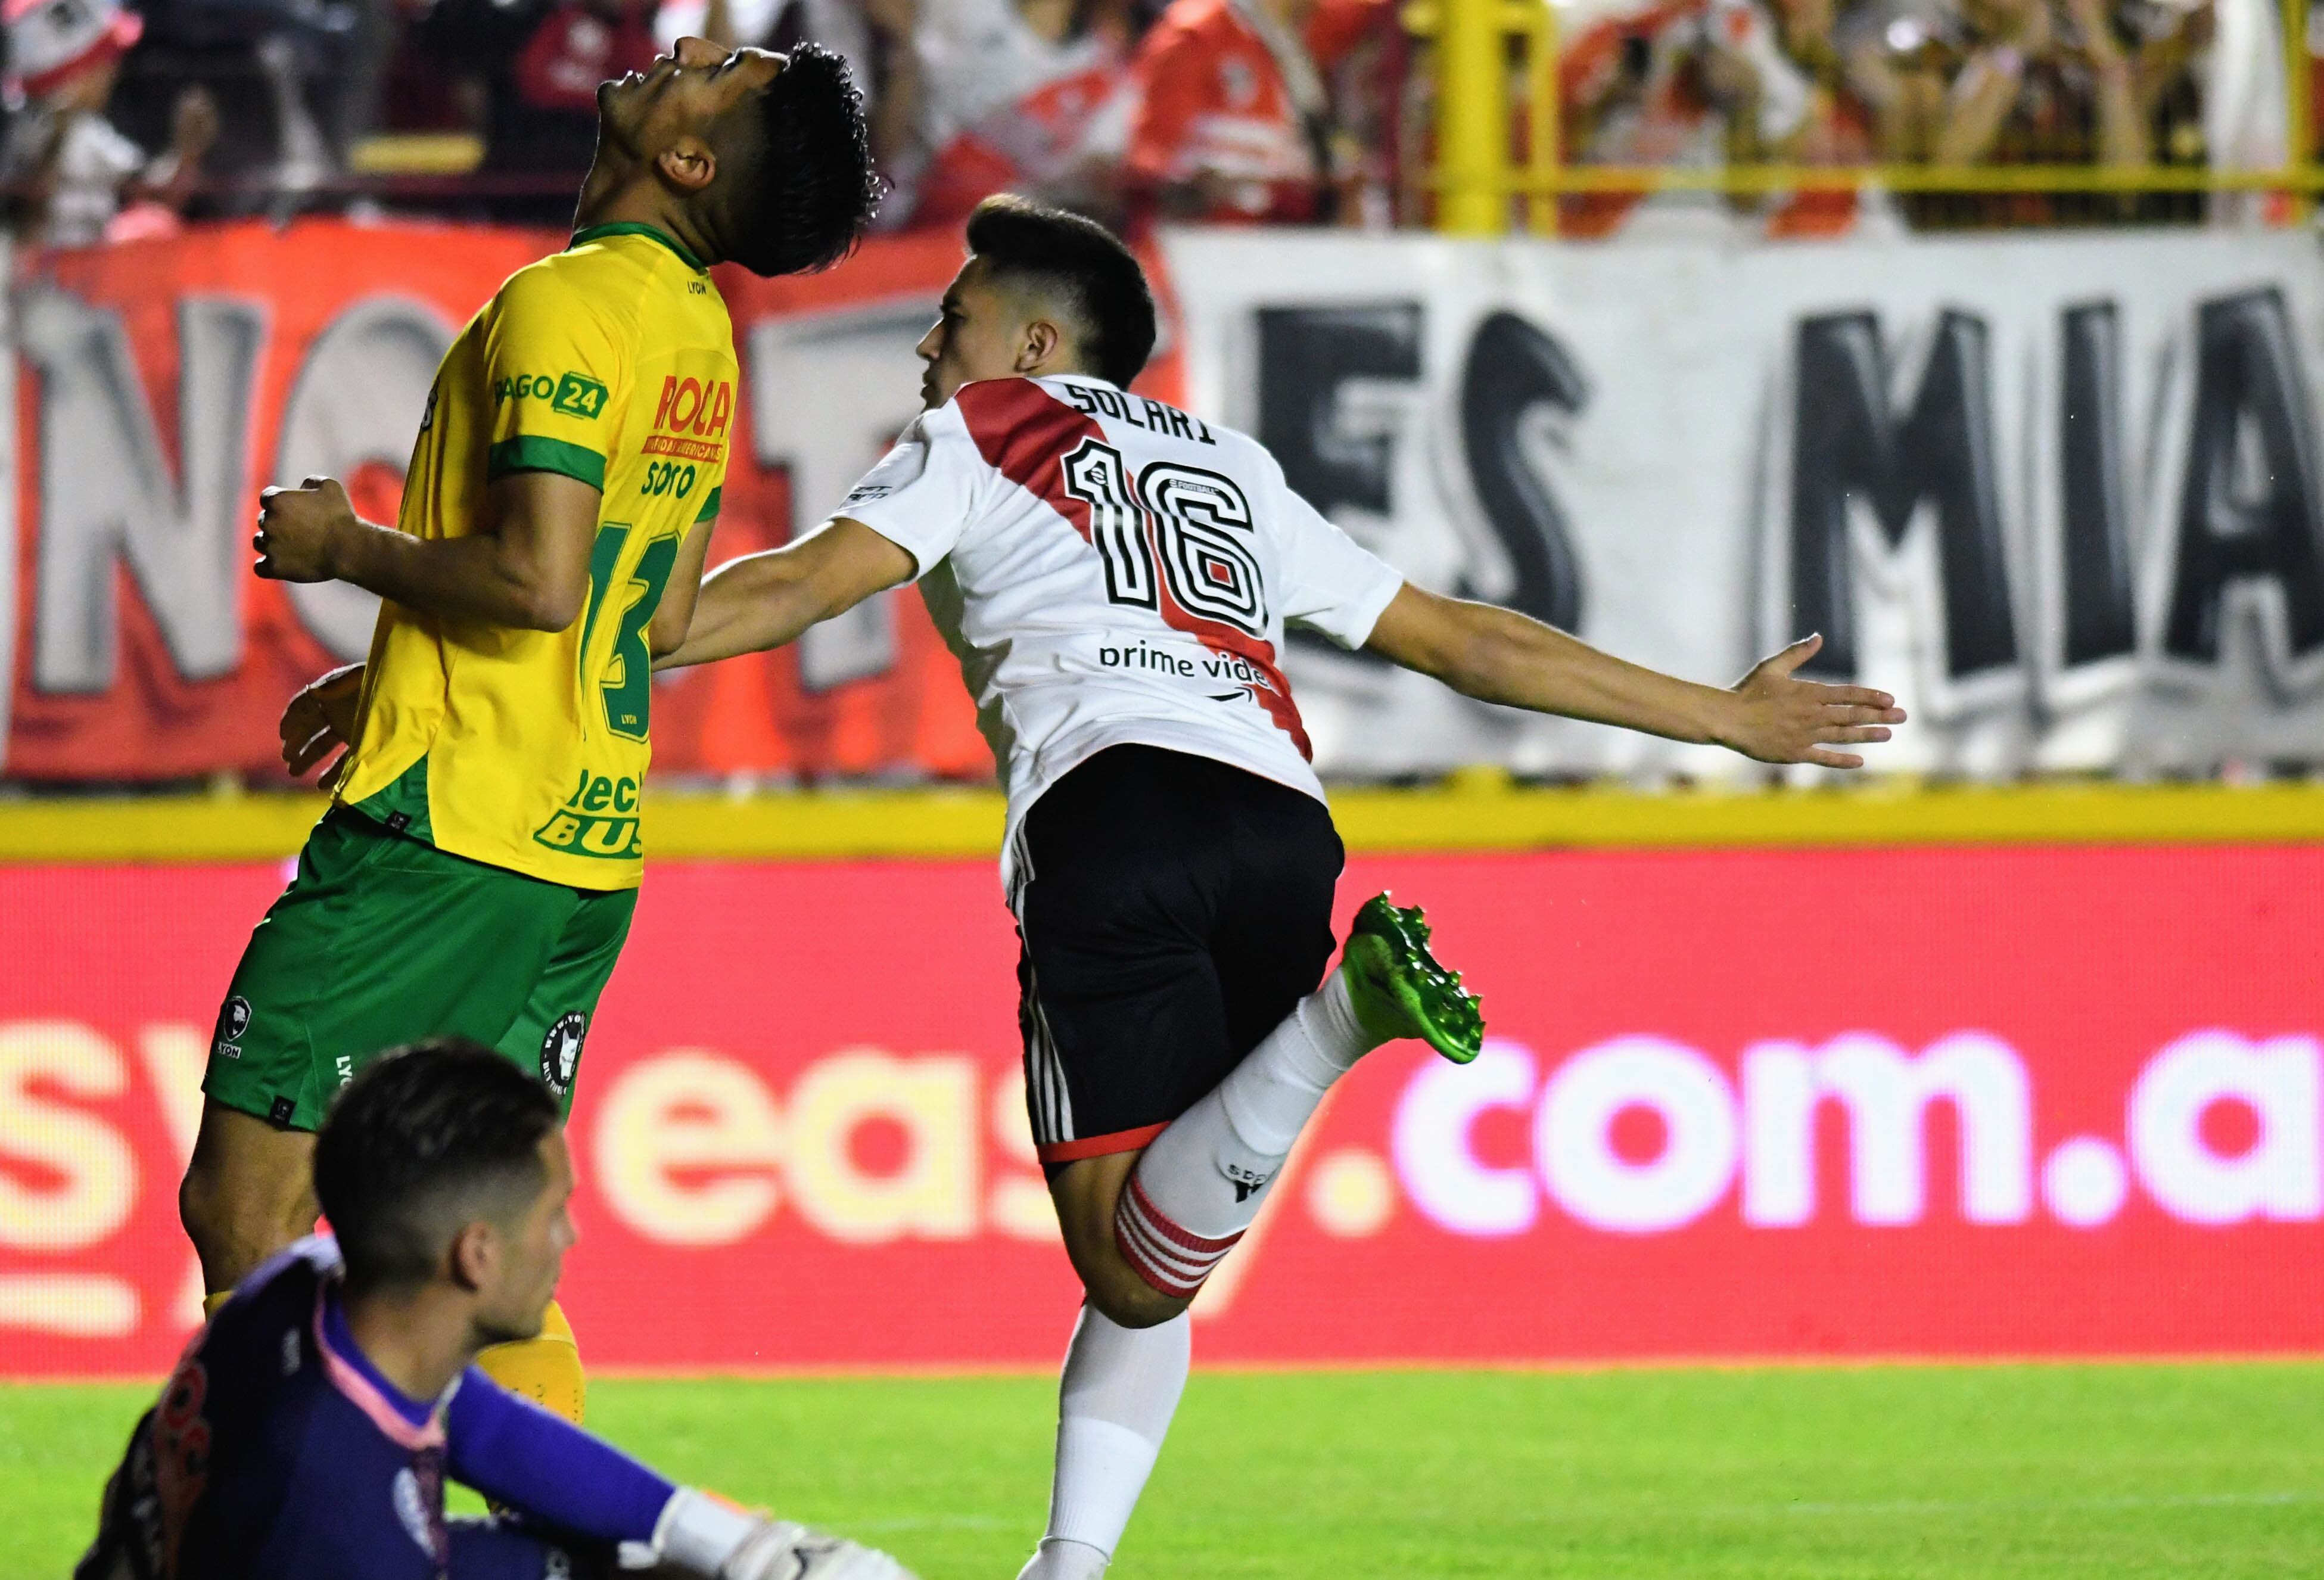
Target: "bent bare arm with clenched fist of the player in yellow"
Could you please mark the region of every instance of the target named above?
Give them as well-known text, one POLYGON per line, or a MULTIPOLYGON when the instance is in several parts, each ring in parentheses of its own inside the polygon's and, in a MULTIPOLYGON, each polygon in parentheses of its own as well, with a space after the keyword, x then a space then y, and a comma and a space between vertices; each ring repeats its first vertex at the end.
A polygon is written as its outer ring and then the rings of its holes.
POLYGON ((511 472, 490 488, 493 530, 411 537, 356 516, 337 479, 258 495, 258 574, 351 581, 442 620, 560 632, 581 618, 600 493, 558 472, 511 472))

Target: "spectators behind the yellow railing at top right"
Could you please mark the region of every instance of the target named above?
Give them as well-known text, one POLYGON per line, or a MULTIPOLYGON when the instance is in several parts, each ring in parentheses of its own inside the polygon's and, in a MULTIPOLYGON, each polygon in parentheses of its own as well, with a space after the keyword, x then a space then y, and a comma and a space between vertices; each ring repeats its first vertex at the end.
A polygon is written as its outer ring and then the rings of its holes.
MULTIPOLYGON (((2017 193, 1903 193, 1906 214, 1924 225, 2196 216, 2205 211, 2196 195, 2061 193, 2057 167, 2287 163, 2273 0, 1618 5, 1569 42, 1559 95, 1573 163, 2027 177, 2017 193)), ((1587 230, 1624 202, 1576 207, 1569 218, 1587 230)), ((1778 230, 1850 223, 1857 211, 1834 191, 1769 207, 1778 230)))

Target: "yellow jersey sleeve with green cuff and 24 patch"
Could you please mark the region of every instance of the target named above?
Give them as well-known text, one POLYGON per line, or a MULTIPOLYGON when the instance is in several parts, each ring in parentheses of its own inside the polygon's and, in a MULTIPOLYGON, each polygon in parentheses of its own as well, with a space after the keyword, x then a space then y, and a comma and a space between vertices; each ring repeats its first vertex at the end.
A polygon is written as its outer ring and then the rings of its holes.
POLYGON ((604 309, 553 270, 518 270, 493 300, 483 339, 493 448, 486 479, 558 472, 604 488, 616 409, 634 349, 604 309))

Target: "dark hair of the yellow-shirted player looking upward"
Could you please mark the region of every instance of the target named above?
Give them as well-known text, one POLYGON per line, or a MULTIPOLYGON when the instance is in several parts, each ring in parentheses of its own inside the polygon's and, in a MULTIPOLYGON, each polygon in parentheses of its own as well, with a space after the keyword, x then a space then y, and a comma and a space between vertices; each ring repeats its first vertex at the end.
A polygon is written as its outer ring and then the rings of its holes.
POLYGON ((799 44, 723 130, 718 179, 704 193, 720 258, 753 274, 809 274, 855 251, 888 184, 846 60, 799 44))

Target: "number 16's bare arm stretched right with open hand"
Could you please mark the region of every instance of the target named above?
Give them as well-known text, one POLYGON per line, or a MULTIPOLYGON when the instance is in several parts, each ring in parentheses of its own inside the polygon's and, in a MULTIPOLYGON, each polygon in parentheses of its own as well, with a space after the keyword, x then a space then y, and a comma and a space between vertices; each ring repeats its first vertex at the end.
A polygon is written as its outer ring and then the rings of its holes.
POLYGON ((1887 727, 1903 723, 1903 709, 1864 685, 1801 681, 1794 669, 1822 644, 1822 637, 1794 641, 1729 688, 1697 685, 1601 653, 1513 609, 1406 583, 1364 646, 1480 702, 1673 741, 1710 741, 1759 762, 1859 769, 1864 757, 1831 748, 1889 739, 1887 727))

